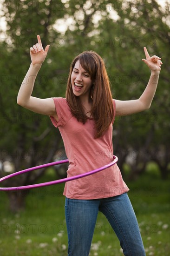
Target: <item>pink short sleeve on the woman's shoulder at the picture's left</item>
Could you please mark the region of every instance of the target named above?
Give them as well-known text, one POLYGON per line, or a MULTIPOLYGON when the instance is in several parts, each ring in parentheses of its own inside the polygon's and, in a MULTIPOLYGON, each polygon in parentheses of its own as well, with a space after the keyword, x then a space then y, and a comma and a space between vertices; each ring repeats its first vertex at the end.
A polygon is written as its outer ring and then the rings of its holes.
POLYGON ((72 113, 71 109, 69 108, 68 102, 65 98, 52 98, 55 104, 56 113, 58 115, 59 121, 56 121, 52 116, 50 119, 52 124, 57 128, 64 126, 65 123, 71 118, 72 113))

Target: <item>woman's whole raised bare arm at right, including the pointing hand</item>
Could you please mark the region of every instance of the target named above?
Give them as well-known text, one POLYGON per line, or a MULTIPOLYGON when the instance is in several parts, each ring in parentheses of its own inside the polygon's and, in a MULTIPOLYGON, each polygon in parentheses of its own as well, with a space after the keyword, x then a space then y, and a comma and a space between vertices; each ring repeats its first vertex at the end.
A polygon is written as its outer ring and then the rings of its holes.
POLYGON ((163 64, 160 57, 156 55, 150 57, 146 47, 144 47, 144 53, 146 59, 142 59, 145 64, 150 68, 151 75, 148 84, 137 100, 131 101, 119 101, 115 100, 116 103, 116 115, 130 115, 133 113, 141 112, 145 109, 150 108, 151 102, 157 89, 157 83, 159 79, 159 73, 161 65, 163 64))

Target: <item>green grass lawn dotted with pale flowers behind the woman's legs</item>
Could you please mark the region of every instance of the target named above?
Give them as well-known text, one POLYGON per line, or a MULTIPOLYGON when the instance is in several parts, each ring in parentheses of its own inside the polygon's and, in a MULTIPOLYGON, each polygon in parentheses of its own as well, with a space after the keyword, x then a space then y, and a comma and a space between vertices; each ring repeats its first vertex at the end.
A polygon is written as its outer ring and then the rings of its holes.
MULTIPOLYGON (((55 179, 52 169, 39 181, 55 179)), ((147 256, 170 255, 169 182, 145 174, 126 182, 147 256)), ((32 189, 26 209, 13 214, 0 193, 0 256, 66 256, 64 184, 32 189)), ((105 216, 98 214, 90 256, 122 256, 119 241, 105 216)))

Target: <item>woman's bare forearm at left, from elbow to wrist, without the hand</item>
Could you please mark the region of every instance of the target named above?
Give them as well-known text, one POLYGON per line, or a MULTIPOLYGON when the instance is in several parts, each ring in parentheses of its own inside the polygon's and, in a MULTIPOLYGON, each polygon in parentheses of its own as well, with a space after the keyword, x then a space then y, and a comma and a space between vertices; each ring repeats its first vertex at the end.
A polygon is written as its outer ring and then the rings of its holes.
POLYGON ((28 72, 26 73, 26 76, 20 86, 20 90, 17 97, 17 103, 19 105, 24 106, 26 102, 29 101, 31 94, 33 92, 35 79, 37 77, 40 67, 41 64, 33 65, 31 63, 28 72))

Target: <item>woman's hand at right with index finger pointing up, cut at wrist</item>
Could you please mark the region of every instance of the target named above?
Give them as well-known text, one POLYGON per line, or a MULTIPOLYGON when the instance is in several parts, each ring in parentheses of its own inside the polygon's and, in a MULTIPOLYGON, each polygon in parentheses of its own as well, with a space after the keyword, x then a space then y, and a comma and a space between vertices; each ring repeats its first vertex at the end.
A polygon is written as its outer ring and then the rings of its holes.
POLYGON ((144 63, 146 63, 146 65, 150 68, 150 70, 152 72, 157 72, 157 71, 160 72, 161 65, 163 64, 161 61, 161 58, 156 55, 153 55, 152 57, 150 57, 146 47, 144 47, 144 53, 146 56, 146 60, 142 59, 142 61, 144 61, 144 63))

